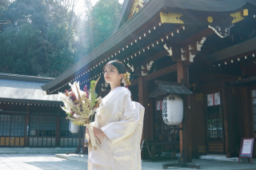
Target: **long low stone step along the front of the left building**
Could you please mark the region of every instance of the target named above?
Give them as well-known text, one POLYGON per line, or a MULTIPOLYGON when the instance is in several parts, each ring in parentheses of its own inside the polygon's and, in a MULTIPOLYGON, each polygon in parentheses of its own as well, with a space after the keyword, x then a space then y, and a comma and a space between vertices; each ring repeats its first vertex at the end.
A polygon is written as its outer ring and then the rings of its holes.
POLYGON ((76 148, 0 148, 0 154, 37 154, 74 152, 76 148))

